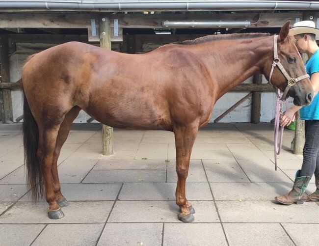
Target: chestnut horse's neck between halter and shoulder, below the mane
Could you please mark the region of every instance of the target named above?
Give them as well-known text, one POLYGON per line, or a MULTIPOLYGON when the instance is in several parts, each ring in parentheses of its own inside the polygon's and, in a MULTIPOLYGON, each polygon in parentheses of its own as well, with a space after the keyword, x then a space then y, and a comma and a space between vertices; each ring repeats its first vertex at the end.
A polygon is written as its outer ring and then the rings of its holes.
POLYGON ((217 98, 252 75, 263 73, 264 64, 272 55, 271 36, 216 42, 220 45, 207 44, 203 60, 210 70, 217 98))

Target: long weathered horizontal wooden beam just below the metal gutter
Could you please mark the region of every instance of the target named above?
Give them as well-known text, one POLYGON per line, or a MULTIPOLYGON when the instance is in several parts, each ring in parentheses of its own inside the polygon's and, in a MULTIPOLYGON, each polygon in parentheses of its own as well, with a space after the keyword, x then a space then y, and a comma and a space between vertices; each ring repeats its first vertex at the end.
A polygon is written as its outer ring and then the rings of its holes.
MULTIPOLYGON (((287 13, 261 13, 259 21, 255 21, 256 13, 236 14, 196 14, 188 12, 185 14, 112 14, 111 19, 119 20, 122 28, 162 28, 165 20, 197 20, 197 21, 246 21, 252 22, 251 27, 281 27, 290 20, 291 25, 295 18, 302 19, 302 12, 287 13)), ((88 28, 91 19, 98 20, 95 13, 33 13, 33 14, 0 14, 0 28, 88 28)), ((98 27, 97 23, 97 27, 98 27)), ((110 23, 113 27, 113 23, 110 23)))

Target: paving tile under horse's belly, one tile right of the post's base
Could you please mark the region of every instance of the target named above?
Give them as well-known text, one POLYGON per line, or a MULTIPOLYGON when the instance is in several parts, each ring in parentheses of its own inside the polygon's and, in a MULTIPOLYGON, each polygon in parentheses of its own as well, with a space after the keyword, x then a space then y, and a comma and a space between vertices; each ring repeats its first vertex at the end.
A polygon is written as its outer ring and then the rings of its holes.
POLYGON ((168 143, 140 144, 135 159, 166 159, 168 143))

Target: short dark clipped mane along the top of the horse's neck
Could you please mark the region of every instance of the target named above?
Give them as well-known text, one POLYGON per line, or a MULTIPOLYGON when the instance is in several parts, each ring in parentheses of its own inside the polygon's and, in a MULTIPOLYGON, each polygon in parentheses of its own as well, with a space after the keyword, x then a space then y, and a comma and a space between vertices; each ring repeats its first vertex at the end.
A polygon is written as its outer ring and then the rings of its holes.
POLYGON ((217 34, 217 35, 208 35, 204 37, 199 37, 193 40, 185 40, 174 42, 173 44, 179 45, 195 45, 207 43, 215 40, 231 40, 231 39, 251 39, 270 36, 270 33, 232 33, 232 34, 217 34))

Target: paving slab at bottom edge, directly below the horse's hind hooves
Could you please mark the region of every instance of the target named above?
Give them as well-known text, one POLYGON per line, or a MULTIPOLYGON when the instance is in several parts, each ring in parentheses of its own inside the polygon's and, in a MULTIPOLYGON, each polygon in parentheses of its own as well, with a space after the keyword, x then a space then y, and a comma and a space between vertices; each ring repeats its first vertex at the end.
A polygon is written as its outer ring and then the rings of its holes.
POLYGON ((32 246, 95 246, 103 224, 49 224, 32 246))

